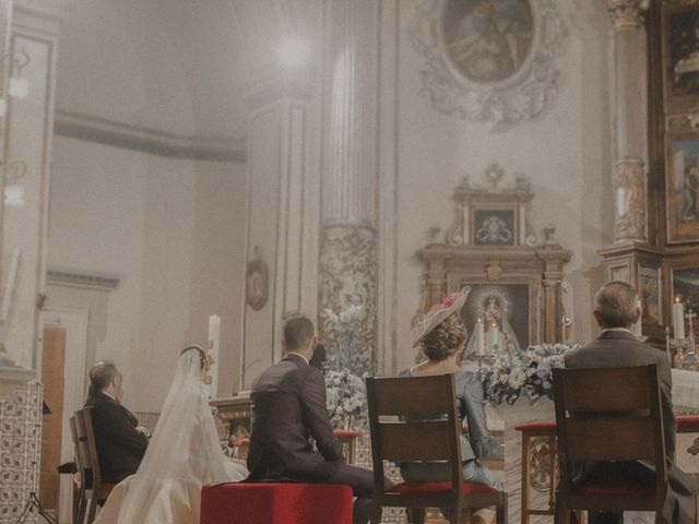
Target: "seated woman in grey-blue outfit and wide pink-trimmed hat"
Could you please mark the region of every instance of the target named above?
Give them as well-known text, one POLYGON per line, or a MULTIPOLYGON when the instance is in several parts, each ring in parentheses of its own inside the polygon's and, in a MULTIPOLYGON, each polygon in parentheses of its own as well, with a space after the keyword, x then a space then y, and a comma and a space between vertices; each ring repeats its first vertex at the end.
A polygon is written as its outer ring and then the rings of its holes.
MULTIPOLYGON (((471 288, 445 297, 422 317, 413 327, 414 345, 419 346, 427 358, 403 371, 401 377, 426 377, 435 374, 454 374, 459 420, 467 425, 467 433, 461 433, 461 458, 463 479, 469 483, 486 484, 498 490, 502 484, 495 474, 478 458, 501 456, 500 444, 490 437, 485 424, 485 401, 483 385, 472 371, 459 366, 459 357, 467 338, 466 327, 461 321, 460 311, 466 301, 471 288)), ((450 480, 450 467, 445 462, 404 462, 401 474, 405 481, 450 480)), ((448 510, 442 509, 446 517, 448 510)), ((479 510, 474 513, 476 520, 495 521, 495 511, 479 510)))

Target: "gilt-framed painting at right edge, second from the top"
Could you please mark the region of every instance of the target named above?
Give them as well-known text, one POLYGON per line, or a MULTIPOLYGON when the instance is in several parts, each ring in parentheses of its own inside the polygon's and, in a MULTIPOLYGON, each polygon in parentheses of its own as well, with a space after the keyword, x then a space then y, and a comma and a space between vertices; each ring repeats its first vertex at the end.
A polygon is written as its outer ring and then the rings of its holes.
POLYGON ((665 164, 667 241, 698 241, 699 133, 668 135, 665 164))

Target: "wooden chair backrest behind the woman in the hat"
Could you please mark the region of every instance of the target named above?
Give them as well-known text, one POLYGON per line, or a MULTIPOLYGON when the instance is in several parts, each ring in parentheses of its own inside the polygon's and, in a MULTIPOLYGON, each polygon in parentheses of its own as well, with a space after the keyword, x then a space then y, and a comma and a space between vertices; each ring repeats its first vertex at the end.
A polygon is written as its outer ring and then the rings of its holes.
POLYGON ((461 493, 453 374, 366 380, 375 487, 382 489, 383 461, 449 461, 452 491, 461 493))

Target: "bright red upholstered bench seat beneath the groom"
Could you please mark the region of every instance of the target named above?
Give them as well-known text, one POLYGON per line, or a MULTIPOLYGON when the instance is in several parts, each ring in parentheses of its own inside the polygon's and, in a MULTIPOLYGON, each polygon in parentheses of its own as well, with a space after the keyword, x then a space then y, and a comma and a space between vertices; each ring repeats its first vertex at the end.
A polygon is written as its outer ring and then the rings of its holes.
POLYGON ((201 524, 351 523, 350 486, 241 483, 201 490, 201 524))

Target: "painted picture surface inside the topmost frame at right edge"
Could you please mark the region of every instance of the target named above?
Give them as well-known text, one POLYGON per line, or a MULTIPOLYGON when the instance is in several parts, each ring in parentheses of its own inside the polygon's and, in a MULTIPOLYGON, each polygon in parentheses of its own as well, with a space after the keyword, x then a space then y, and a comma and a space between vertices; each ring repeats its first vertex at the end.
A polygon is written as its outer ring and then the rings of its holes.
POLYGON ((683 9, 666 14, 667 97, 699 94, 699 10, 683 9))

